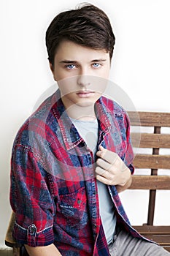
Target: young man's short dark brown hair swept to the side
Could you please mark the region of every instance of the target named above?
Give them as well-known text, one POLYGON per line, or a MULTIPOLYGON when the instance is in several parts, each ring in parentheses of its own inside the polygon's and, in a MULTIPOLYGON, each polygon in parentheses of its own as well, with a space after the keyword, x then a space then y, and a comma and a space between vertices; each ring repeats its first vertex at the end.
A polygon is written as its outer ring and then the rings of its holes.
POLYGON ((69 39, 79 45, 109 52, 112 59, 115 36, 106 13, 92 4, 59 13, 46 32, 48 59, 54 64, 59 43, 69 39))

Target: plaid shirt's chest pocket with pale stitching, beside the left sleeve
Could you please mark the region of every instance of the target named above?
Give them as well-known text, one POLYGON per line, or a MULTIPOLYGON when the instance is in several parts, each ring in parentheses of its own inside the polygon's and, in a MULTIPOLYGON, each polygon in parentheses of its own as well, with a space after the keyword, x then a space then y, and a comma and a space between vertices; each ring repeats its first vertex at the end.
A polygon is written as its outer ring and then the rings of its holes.
POLYGON ((74 193, 60 195, 57 207, 57 222, 65 228, 82 229, 88 223, 88 207, 85 187, 74 193), (69 225, 67 227, 67 225, 69 225))

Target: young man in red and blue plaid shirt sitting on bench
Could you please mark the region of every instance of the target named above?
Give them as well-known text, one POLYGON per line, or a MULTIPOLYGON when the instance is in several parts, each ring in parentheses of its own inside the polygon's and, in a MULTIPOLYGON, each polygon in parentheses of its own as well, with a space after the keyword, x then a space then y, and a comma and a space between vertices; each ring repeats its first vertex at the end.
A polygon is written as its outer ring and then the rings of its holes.
POLYGON ((169 255, 134 230, 118 192, 131 184, 127 113, 102 94, 115 36, 86 4, 46 34, 58 91, 23 124, 12 148, 14 236, 29 255, 169 255))

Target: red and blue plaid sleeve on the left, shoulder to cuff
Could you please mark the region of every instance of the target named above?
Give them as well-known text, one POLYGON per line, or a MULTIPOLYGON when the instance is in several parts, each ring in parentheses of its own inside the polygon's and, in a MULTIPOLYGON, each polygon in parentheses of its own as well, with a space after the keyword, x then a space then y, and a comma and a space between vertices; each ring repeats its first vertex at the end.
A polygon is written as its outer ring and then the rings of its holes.
POLYGON ((16 216, 13 236, 20 244, 45 246, 53 243, 55 203, 49 176, 31 148, 15 145, 11 160, 10 203, 16 216))

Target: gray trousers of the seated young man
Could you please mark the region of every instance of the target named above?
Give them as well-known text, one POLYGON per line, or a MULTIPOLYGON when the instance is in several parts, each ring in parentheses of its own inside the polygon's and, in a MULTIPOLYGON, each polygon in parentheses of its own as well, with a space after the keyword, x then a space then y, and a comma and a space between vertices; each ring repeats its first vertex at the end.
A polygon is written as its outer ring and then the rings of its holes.
POLYGON ((170 256, 161 246, 134 238, 124 230, 120 230, 109 245, 109 253, 111 256, 170 256))

